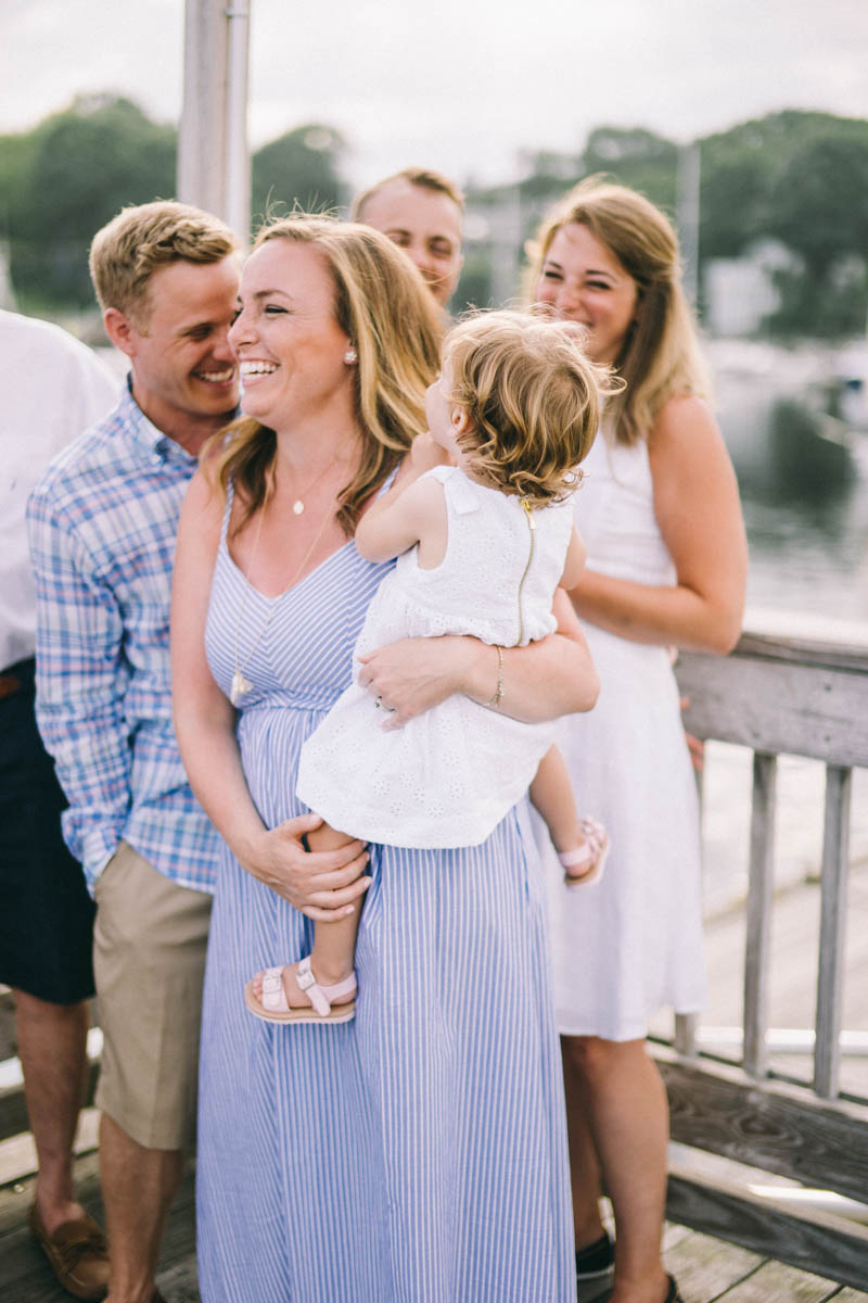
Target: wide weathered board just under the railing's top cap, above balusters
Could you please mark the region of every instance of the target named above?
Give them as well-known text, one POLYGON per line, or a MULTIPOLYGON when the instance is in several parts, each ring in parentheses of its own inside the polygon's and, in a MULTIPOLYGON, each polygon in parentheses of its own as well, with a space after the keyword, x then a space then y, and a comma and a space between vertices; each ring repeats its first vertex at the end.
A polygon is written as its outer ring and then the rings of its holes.
POLYGON ((868 766, 868 676, 781 659, 683 653, 677 667, 690 697, 685 726, 774 754, 868 766))

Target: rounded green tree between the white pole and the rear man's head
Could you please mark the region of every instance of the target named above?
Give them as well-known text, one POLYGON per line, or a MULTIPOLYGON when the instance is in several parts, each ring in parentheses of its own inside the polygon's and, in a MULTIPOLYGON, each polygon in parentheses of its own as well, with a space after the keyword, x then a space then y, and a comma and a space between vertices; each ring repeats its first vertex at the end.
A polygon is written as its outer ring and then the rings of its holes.
POLYGON ((264 145, 252 160, 254 229, 264 218, 293 208, 324 212, 344 198, 338 164, 344 137, 319 122, 308 122, 264 145))

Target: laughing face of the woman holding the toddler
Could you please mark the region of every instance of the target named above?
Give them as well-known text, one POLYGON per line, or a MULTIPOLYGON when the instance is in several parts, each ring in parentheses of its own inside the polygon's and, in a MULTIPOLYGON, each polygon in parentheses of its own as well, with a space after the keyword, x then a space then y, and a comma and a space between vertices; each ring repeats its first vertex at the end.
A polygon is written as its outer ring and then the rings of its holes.
POLYGON ((314 244, 265 241, 241 278, 229 340, 242 409, 280 433, 310 421, 353 421, 355 364, 334 319, 334 283, 314 244))

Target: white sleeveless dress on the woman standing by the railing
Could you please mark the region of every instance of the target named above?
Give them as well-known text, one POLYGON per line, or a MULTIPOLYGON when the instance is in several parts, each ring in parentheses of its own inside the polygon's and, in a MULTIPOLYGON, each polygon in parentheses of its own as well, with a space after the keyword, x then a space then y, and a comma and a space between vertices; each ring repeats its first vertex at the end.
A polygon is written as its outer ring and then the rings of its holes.
MULTIPOLYGON (((603 431, 574 495, 587 567, 649 585, 675 569, 653 511, 644 442, 603 431)), ((558 1029, 605 1040, 644 1037, 660 1009, 705 1002, 696 784, 669 652, 583 622, 600 674, 597 705, 560 722, 579 808, 600 818, 612 848, 601 881, 567 887, 539 820, 547 869, 558 1029)))

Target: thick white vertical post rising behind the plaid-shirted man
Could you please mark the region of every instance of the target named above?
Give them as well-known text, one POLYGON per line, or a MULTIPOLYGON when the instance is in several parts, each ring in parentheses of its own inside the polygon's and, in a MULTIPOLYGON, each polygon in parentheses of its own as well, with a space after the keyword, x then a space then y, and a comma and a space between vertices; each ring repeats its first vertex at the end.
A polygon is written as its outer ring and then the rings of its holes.
POLYGON ((185 0, 178 198, 250 232, 249 0, 185 0))

